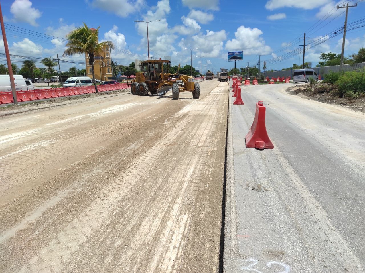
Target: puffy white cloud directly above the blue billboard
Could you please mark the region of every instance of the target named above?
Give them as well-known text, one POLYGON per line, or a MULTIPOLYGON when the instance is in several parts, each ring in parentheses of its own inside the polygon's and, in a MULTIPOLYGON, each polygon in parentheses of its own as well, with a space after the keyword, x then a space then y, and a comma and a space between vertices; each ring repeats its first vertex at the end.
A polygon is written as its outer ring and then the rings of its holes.
POLYGON ((243 54, 269 54, 272 49, 265 45, 263 32, 258 28, 240 26, 234 33, 235 38, 228 40, 226 49, 229 51, 243 50, 243 54))

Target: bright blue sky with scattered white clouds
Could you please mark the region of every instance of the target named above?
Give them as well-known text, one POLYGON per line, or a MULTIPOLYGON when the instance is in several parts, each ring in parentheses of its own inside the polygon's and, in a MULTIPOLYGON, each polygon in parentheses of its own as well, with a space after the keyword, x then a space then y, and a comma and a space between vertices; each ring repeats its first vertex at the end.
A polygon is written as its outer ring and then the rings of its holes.
MULTIPOLYGON (((300 64, 298 46, 303 40, 299 37, 304 32, 310 37, 305 61, 315 65, 321 52, 341 53, 345 9, 336 7, 356 2, 348 15, 348 23, 355 28, 365 25, 364 0, 5 0, 1 8, 10 53, 34 59, 38 67, 42 67, 40 58, 63 54, 65 40, 54 37, 65 38, 83 22, 100 26, 99 39, 115 43, 112 58, 118 64, 147 58, 146 24, 134 20, 148 17, 160 20, 149 24, 151 58, 170 55, 173 64, 183 66, 191 62, 190 50, 185 48, 197 48, 192 54, 193 66, 200 69, 196 56, 202 55, 205 71, 206 62, 215 70, 232 68, 234 62, 227 61, 227 51, 239 50, 243 50, 243 61, 237 62, 238 68, 247 62, 257 65, 256 55, 263 55, 261 62, 267 62, 267 69, 300 64)), ((365 47, 365 27, 347 32, 345 55, 357 53, 360 47, 365 47)), ((4 53, 3 41, 0 53, 4 53)), ((12 61, 21 66, 23 59, 14 57, 12 61)), ((83 56, 62 59, 68 62, 61 62, 61 70, 85 66, 83 56)))

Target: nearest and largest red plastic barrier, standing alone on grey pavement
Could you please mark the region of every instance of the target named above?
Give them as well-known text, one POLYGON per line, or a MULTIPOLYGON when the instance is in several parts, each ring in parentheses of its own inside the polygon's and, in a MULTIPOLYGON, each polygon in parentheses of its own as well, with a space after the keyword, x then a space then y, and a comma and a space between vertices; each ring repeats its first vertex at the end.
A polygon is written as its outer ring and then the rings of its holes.
POLYGON ((245 137, 247 148, 274 149, 274 145, 266 131, 265 113, 266 107, 262 101, 256 103, 255 118, 245 137))

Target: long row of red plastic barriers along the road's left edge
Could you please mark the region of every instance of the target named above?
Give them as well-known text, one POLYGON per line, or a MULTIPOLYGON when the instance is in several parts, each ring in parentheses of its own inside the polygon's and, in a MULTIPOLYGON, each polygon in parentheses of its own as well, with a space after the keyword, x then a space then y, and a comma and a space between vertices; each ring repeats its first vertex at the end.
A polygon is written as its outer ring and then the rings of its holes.
MULTIPOLYGON (((120 89, 127 89, 127 84, 110 84, 97 86, 98 92, 114 91, 120 89)), ((52 89, 39 89, 28 91, 16 91, 16 99, 18 101, 31 101, 51 99, 57 97, 66 97, 73 95, 83 95, 95 93, 94 86, 81 86, 81 87, 68 87, 68 88, 52 88, 52 89)), ((12 92, 0 92, 0 104, 13 103, 12 92)))

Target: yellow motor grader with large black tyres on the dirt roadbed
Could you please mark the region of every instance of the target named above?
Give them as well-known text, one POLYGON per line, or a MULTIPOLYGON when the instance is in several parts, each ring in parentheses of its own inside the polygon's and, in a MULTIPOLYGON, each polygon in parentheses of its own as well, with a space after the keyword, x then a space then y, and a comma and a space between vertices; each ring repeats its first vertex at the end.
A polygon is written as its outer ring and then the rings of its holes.
MULTIPOLYGON (((172 99, 177 100, 180 92, 192 92, 194 99, 199 99, 200 86, 195 78, 177 73, 169 73, 171 62, 168 60, 143 61, 141 71, 136 73, 135 82, 132 82, 132 95, 147 96, 148 92, 159 96, 166 95, 172 90, 172 99)), ((179 65, 180 68, 180 65, 179 65)))

